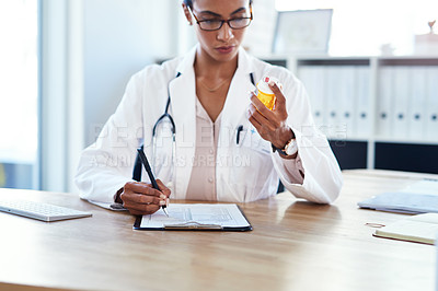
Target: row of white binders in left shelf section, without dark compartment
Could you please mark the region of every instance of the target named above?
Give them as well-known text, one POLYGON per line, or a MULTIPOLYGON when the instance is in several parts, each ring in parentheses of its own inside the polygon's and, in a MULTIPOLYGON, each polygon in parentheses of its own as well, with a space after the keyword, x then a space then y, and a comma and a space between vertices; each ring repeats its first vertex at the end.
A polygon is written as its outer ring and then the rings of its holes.
POLYGON ((372 135, 370 59, 300 59, 298 78, 313 117, 330 139, 368 140, 372 135))

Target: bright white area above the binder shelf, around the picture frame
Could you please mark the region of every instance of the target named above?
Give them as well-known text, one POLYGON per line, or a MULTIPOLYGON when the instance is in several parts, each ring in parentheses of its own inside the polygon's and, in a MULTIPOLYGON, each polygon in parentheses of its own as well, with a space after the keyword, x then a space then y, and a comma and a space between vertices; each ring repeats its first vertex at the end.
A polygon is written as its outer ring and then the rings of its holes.
POLYGON ((428 33, 427 22, 438 18, 436 0, 276 0, 275 3, 278 10, 333 9, 328 48, 333 56, 388 54, 382 46, 394 49, 394 55, 414 54, 414 36, 428 33))

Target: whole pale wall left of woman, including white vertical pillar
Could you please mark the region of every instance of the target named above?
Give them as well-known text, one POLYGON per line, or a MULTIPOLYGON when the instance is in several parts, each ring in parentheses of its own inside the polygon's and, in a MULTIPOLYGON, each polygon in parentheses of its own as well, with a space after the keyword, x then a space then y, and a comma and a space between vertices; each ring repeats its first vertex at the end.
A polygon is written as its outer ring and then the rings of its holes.
POLYGON ((41 188, 73 191, 81 150, 129 77, 177 54, 178 0, 42 0, 41 188))

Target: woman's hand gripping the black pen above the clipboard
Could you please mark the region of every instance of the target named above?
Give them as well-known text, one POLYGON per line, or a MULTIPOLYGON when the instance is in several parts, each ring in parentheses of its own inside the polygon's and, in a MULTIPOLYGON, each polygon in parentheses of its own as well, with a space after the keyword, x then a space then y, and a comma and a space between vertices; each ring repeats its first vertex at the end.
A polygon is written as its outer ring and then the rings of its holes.
POLYGON ((161 206, 166 205, 171 190, 157 179, 160 190, 152 188, 145 182, 128 182, 123 188, 120 199, 123 206, 134 216, 146 216, 157 212, 161 206))

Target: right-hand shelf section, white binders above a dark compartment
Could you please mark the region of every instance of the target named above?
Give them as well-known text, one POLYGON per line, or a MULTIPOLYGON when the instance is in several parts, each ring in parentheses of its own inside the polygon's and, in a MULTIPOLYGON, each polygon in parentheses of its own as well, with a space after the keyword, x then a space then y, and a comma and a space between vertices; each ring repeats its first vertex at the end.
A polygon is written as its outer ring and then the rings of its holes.
POLYGON ((438 58, 381 58, 374 167, 438 173, 438 58))

